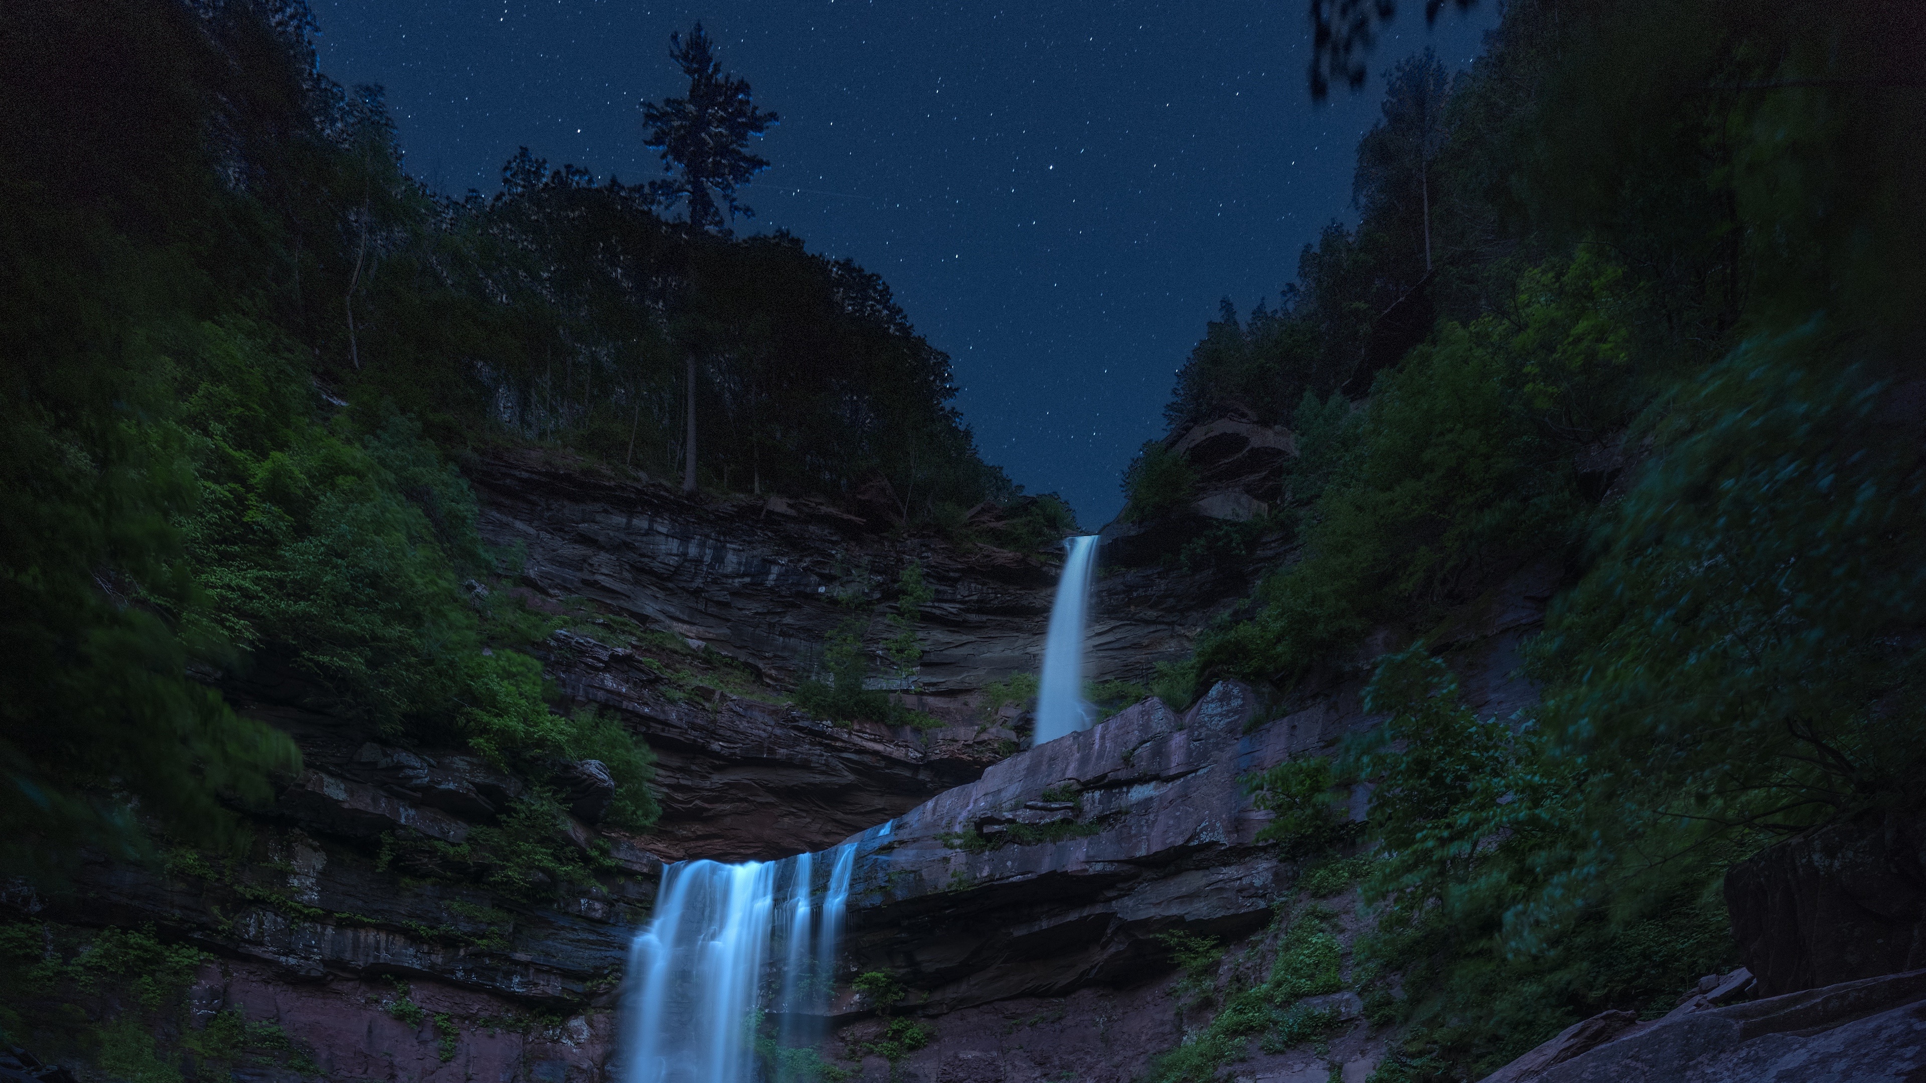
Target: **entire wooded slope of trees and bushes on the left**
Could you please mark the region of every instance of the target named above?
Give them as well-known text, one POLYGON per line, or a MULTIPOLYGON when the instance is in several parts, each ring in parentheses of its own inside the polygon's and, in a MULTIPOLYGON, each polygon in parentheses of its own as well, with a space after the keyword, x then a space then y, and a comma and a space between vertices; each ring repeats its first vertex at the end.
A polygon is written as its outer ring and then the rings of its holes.
POLYGON ((601 759, 614 821, 647 827, 647 748, 545 700, 551 628, 489 590, 516 557, 476 534, 466 453, 674 474, 693 447, 705 486, 882 478, 905 520, 1015 495, 876 276, 526 150, 501 195, 437 197, 312 29, 300 0, 0 19, 8 871, 156 829, 237 842, 233 807, 299 755, 212 690, 233 680, 537 790, 601 759))

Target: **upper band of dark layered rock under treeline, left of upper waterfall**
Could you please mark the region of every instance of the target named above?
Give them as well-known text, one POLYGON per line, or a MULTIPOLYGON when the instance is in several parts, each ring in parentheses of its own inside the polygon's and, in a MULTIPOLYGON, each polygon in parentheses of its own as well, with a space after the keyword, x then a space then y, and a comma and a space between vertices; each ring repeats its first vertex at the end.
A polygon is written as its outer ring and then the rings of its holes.
POLYGON ((647 626, 674 628, 768 671, 782 684, 844 619, 834 594, 859 568, 894 578, 923 561, 923 684, 967 692, 1032 671, 1055 570, 1028 553, 959 553, 936 538, 890 538, 886 520, 822 501, 690 501, 664 486, 516 453, 468 466, 482 534, 526 547, 526 578, 647 626))

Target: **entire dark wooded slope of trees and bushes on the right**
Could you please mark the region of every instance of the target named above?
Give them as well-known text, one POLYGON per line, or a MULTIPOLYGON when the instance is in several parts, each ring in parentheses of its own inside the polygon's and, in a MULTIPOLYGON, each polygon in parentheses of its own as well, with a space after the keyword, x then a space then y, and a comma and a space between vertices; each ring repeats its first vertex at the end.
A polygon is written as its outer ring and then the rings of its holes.
MULTIPOLYGON (((1512 4, 1435 152, 1385 152, 1431 146, 1408 83, 1437 85, 1391 73, 1360 227, 1179 376, 1173 430, 1225 399, 1296 430, 1298 547, 1158 690, 1288 694, 1377 628, 1410 644, 1331 775, 1377 782, 1362 975, 1412 1023, 1387 1079, 1670 1006, 1730 958, 1726 867, 1926 767, 1918 19, 1512 4), (1535 561, 1566 582, 1543 700, 1481 719, 1433 649, 1535 561)), ((1323 780, 1267 782, 1317 850, 1323 780)))

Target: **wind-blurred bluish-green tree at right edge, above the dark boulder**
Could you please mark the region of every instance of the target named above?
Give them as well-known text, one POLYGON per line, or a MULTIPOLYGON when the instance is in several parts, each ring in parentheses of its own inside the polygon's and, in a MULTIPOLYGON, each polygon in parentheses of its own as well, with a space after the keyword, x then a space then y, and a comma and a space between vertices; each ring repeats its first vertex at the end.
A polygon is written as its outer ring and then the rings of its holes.
MULTIPOLYGON (((1614 856, 1666 892, 1678 856, 1911 800, 1926 478, 1893 453, 1882 382, 1841 355, 1822 326, 1753 339, 1679 395, 1662 462, 1560 599, 1533 651, 1541 717, 1601 765, 1585 807, 1624 811, 1587 823, 1597 852, 1558 894, 1595 896, 1614 856)), ((1558 910, 1535 900, 1525 923, 1558 910)))

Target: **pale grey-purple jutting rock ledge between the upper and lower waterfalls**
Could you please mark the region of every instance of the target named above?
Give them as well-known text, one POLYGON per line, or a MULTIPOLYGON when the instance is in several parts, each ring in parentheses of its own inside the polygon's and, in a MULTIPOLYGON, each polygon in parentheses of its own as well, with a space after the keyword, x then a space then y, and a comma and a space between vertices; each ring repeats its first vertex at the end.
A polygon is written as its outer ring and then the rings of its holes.
POLYGON ((1294 732, 1244 736, 1254 711, 1236 684, 1184 715, 1150 700, 865 832, 849 954, 950 1012, 1138 977, 1165 954, 1156 933, 1252 933, 1281 885, 1238 777, 1294 732), (1013 825, 1032 842, 1005 842, 1013 825))

